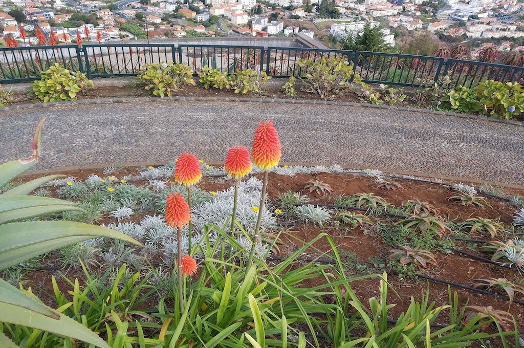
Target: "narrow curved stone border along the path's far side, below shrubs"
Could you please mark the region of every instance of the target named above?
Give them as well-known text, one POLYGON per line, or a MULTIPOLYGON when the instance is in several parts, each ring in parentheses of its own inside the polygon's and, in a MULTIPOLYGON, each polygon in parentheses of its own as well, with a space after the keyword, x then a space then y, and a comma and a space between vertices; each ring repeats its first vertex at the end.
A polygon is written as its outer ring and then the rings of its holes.
POLYGON ((456 114, 452 112, 434 111, 429 109, 419 109, 407 106, 390 106, 390 105, 375 105, 365 103, 353 103, 353 102, 335 102, 335 101, 324 101, 317 99, 281 99, 281 98, 251 98, 251 97, 208 97, 208 96, 172 96, 172 97, 133 97, 133 98, 95 98, 95 99, 82 99, 76 101, 64 101, 64 102, 48 102, 48 103, 34 103, 34 104, 20 104, 0 107, 0 112, 11 111, 11 110, 23 110, 26 108, 36 107, 51 107, 58 105, 80 105, 80 104, 116 104, 116 103, 134 103, 134 102, 161 102, 161 101, 195 101, 195 102, 250 102, 250 103, 282 103, 282 104, 325 104, 325 105, 338 105, 338 106, 357 106, 357 107, 370 107, 370 108, 383 108, 389 110, 418 112, 424 114, 433 115, 445 115, 454 116, 460 118, 476 119, 478 121, 488 121, 496 123, 512 124, 517 126, 524 126, 524 122, 514 121, 512 119, 498 119, 480 115, 469 115, 469 114, 456 114))

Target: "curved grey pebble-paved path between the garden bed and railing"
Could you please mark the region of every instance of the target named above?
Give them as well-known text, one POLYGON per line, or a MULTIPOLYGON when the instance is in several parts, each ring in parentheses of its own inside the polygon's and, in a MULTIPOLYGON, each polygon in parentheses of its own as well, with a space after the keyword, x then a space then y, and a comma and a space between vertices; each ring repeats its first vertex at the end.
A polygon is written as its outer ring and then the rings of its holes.
POLYGON ((282 161, 383 168, 524 185, 524 128, 454 116, 319 104, 156 101, 59 105, 0 113, 0 162, 27 157, 40 118, 35 169, 163 162, 191 151, 222 161, 272 119, 282 161))

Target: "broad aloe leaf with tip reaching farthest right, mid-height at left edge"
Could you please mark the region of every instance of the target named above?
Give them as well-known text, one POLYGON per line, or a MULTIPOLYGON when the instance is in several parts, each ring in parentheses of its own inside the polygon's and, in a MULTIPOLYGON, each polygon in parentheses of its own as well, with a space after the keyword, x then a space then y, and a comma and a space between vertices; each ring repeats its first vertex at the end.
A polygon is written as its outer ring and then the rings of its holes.
POLYGON ((59 247, 96 237, 143 246, 133 238, 105 227, 71 221, 28 221, 0 225, 0 269, 59 247))

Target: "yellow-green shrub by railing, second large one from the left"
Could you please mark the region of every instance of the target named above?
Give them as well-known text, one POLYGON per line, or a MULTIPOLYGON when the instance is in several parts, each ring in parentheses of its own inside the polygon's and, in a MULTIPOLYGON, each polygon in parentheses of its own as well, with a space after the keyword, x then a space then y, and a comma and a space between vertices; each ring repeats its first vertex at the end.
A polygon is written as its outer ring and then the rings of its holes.
POLYGON ((140 82, 146 83, 147 91, 152 90, 154 95, 161 98, 166 94, 171 96, 173 91, 184 84, 195 84, 191 67, 173 62, 148 64, 140 71, 137 78, 140 82))

